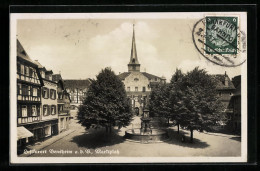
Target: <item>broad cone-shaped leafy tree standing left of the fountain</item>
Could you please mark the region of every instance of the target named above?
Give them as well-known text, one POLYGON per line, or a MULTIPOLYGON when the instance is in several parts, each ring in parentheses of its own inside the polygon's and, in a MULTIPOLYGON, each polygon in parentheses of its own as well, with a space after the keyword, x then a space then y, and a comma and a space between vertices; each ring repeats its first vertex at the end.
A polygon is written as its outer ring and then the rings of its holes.
POLYGON ((87 128, 127 126, 132 113, 126 91, 121 80, 110 68, 103 69, 87 92, 83 105, 79 108, 80 122, 87 128))

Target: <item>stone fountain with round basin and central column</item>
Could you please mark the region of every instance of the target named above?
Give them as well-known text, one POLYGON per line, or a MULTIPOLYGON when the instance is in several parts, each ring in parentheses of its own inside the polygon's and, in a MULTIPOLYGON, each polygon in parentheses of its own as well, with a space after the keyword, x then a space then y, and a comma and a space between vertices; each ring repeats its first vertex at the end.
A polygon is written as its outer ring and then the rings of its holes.
POLYGON ((141 143, 159 142, 168 139, 166 131, 160 129, 152 129, 149 110, 144 109, 141 118, 141 128, 133 128, 125 131, 125 138, 138 141, 141 143))

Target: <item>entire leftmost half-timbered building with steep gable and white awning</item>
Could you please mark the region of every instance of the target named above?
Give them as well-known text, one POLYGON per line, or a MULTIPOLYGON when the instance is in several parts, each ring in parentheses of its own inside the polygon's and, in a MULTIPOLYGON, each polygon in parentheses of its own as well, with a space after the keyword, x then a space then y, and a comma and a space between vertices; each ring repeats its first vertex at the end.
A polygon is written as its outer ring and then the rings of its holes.
POLYGON ((17 145, 42 138, 45 126, 41 116, 41 88, 44 85, 38 66, 17 40, 17 145))

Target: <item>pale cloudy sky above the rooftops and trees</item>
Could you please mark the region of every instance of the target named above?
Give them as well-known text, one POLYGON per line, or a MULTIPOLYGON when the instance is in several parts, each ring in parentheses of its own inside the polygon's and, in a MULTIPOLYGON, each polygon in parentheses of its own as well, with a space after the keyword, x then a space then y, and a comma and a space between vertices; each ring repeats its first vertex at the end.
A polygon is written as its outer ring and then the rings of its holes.
POLYGON ((133 23, 141 71, 170 80, 176 68, 240 75, 241 67, 215 65, 195 49, 197 19, 19 19, 17 38, 27 54, 63 79, 95 78, 105 67, 127 72, 133 23))

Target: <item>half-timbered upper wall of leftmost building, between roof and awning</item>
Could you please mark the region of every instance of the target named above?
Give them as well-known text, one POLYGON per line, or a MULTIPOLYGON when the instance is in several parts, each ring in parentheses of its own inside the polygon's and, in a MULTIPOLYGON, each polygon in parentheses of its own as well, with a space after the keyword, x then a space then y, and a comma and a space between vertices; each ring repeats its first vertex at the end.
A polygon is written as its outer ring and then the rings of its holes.
POLYGON ((17 125, 40 121, 41 84, 36 68, 17 60, 17 125))

